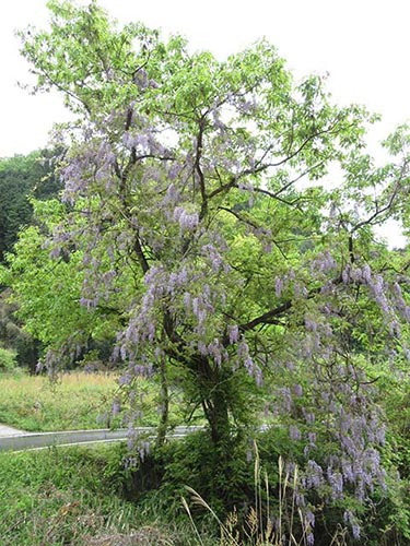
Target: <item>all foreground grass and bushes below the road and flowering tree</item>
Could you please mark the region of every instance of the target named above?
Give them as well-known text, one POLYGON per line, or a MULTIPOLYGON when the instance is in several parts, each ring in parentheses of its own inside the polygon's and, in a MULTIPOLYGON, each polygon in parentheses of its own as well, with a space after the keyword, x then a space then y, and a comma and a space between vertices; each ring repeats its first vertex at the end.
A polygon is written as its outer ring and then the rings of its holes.
POLYGON ((296 502, 298 474, 276 435, 259 435, 251 460, 245 438, 223 456, 203 432, 153 449, 137 467, 124 443, 0 453, 1 545, 409 545, 406 482, 355 507, 354 541, 343 521, 352 499, 325 506, 307 496, 314 523, 296 502))

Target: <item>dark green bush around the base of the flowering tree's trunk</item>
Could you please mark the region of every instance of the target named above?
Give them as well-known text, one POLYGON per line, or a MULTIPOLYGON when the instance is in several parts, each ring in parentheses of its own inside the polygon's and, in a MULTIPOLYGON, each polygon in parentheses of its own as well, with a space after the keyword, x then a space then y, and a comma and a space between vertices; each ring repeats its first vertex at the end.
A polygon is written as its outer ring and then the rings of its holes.
MULTIPOLYGON (((232 439, 230 446, 220 447, 214 451, 210 449, 208 434, 196 432, 180 441, 154 449, 143 462, 139 462, 131 475, 124 475, 122 491, 126 498, 137 505, 155 505, 164 518, 183 522, 187 514, 180 499, 185 497, 189 502, 190 494, 186 489, 186 486, 189 486, 204 501, 189 506, 196 525, 203 527, 207 522, 209 531, 215 535, 219 534, 218 525, 215 521, 210 521, 210 513, 204 503, 211 507, 222 522, 231 521, 232 524, 234 514, 234 534, 244 541, 243 544, 247 544, 244 537, 249 525, 249 515, 255 513, 255 510, 260 515, 261 524, 266 523, 268 517, 277 520, 281 513, 282 530, 288 530, 289 533, 292 529, 292 533, 301 537, 305 522, 297 511, 294 518, 290 517, 295 499, 292 476, 286 473, 284 465, 280 479, 278 462, 280 458, 283 461, 295 461, 298 475, 302 476, 306 463, 303 450, 295 451, 286 429, 281 427, 256 435, 256 442, 261 483, 256 483, 256 454, 251 449, 253 443, 249 444, 247 439, 237 436, 232 439), (288 484, 285 498, 280 495, 283 492, 284 482, 288 484)), ((324 449, 325 447, 318 446, 316 456, 319 461, 320 450, 323 458, 325 456, 324 449)), ((126 452, 124 454, 126 455, 126 452)), ((387 454, 384 456, 386 459, 387 454)), ((388 461, 386 463, 387 489, 375 488, 365 501, 358 500, 349 490, 345 490, 343 499, 337 501, 331 501, 326 490, 305 491, 306 507, 315 514, 315 527, 312 530, 315 546, 328 546, 339 534, 343 536, 340 544, 349 546, 410 545, 409 480, 406 476, 398 480, 396 466, 388 461), (359 542, 350 536, 352 530, 343 519, 345 511, 351 511, 356 517, 361 527, 359 542)), ((115 479, 120 482, 121 476, 116 473, 115 479)), ((302 486, 298 491, 303 491, 302 486)))

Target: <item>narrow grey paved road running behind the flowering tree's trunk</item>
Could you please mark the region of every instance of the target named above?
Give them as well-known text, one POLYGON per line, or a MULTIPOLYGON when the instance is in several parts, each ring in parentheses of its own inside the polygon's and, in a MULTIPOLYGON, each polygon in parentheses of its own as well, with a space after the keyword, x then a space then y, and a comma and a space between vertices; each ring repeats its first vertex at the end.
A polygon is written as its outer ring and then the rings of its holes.
MULTIPOLYGON (((176 427, 169 431, 168 438, 180 438, 201 427, 176 427)), ((136 429, 140 435, 154 438, 154 427, 140 427, 136 429)), ((0 426, 0 451, 22 451, 40 449, 51 446, 72 446, 77 443, 112 442, 127 439, 127 430, 68 430, 60 432, 24 432, 12 427, 0 426), (1 432, 4 434, 1 434, 1 432), (9 434, 7 434, 9 432, 9 434)))

